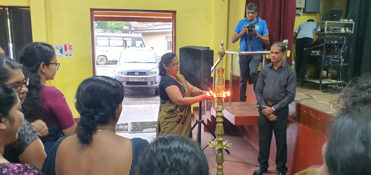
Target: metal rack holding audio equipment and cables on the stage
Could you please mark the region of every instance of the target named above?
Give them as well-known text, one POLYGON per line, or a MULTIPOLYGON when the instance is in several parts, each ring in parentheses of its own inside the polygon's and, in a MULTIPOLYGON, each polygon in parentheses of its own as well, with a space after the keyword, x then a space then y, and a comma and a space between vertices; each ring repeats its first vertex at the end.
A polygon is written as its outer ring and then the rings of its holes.
POLYGON ((319 91, 322 91, 322 84, 339 84, 339 83, 346 83, 345 81, 339 80, 332 80, 329 78, 329 68, 340 66, 340 76, 341 76, 341 70, 342 66, 348 66, 349 65, 349 57, 347 55, 342 55, 344 52, 344 46, 347 48, 352 44, 351 41, 351 35, 354 31, 354 22, 344 22, 344 21, 319 21, 317 22, 317 33, 320 37, 319 45, 313 46, 310 48, 305 48, 305 50, 313 50, 313 48, 319 48, 319 54, 318 55, 312 55, 315 57, 319 57, 321 61, 321 72, 319 75, 319 80, 303 80, 302 82, 309 82, 309 83, 316 83, 319 84, 319 91), (346 40, 348 38, 348 40, 346 40), (328 46, 331 46, 331 49, 328 49, 328 46), (332 46, 335 47, 335 51, 332 48, 332 46), (336 50, 339 47, 340 53, 336 53, 336 50), (341 49, 340 49, 341 48, 341 49), (328 50, 331 50, 332 53, 327 53, 328 50), (332 55, 331 55, 332 54, 332 55), (336 57, 336 61, 333 61, 333 59, 330 59, 330 57, 336 57), (337 62, 337 63, 336 63, 337 62), (326 79, 323 80, 322 73, 324 70, 324 67, 327 67, 326 71, 326 79))

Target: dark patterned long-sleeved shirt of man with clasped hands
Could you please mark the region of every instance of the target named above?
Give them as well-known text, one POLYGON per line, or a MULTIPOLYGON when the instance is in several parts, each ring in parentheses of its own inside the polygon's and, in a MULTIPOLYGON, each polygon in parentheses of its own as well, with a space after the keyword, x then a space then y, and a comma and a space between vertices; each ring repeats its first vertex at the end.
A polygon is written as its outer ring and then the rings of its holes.
POLYGON ((278 104, 274 105, 275 110, 288 106, 295 99, 296 73, 295 70, 283 62, 281 67, 275 70, 273 63, 265 65, 260 71, 256 83, 255 96, 259 107, 265 109, 264 101, 278 104))

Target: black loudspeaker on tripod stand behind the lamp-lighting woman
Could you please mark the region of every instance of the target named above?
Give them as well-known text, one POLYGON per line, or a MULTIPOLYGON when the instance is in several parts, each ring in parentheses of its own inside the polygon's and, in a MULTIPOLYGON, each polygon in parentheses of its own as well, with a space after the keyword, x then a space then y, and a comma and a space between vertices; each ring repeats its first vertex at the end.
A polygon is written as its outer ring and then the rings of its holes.
POLYGON ((211 67, 214 64, 214 50, 209 47, 185 46, 179 49, 180 74, 191 85, 201 90, 212 87, 211 67))

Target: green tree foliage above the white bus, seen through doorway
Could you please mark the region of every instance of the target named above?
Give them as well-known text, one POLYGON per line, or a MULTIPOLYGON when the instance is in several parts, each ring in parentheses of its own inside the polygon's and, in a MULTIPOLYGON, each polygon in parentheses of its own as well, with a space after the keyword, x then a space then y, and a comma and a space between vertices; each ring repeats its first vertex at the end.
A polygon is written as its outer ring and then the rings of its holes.
POLYGON ((95 29, 103 29, 104 33, 118 33, 119 31, 127 31, 124 26, 129 26, 129 22, 121 21, 94 21, 95 29))

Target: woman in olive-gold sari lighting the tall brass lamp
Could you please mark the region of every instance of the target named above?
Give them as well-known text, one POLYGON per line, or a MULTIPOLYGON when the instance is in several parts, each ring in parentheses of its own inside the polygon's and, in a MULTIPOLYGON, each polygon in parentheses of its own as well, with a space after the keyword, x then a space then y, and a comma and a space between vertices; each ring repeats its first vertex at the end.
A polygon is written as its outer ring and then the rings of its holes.
POLYGON ((161 80, 156 135, 188 136, 191 131, 191 105, 201 100, 213 99, 206 91, 194 87, 183 75, 178 74, 179 64, 177 55, 166 53, 162 55, 158 65, 161 80))

